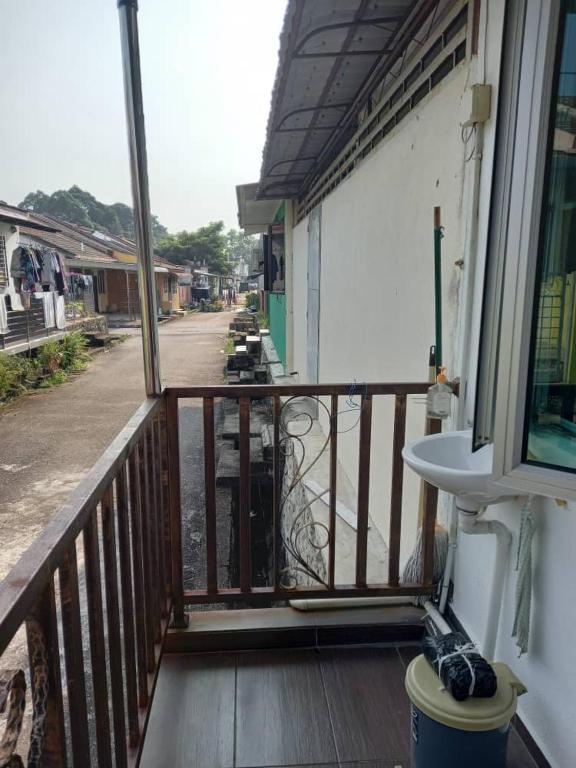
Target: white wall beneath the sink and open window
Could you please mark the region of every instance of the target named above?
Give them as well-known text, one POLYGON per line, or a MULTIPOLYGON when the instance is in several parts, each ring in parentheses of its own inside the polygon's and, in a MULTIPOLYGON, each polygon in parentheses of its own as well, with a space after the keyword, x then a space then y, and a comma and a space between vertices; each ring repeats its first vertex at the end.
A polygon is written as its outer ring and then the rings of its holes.
MULTIPOLYGON (((496 657, 528 688, 519 700, 519 714, 553 768, 572 768, 576 764, 576 504, 564 507, 544 498, 534 503, 532 628, 529 651, 521 658, 511 637, 521 505, 499 504, 487 515, 505 523, 514 536, 496 657)), ((453 608, 476 642, 484 636, 494 561, 494 537, 459 536, 453 608)))

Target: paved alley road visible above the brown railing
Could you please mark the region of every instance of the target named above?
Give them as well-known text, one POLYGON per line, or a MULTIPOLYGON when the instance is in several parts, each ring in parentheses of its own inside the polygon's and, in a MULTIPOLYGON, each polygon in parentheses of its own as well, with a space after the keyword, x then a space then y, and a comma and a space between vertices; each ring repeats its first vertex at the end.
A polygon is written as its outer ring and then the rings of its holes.
MULTIPOLYGON (((220 383, 230 318, 193 314, 162 324, 163 383, 220 383)), ((133 331, 71 382, 0 409, 0 578, 143 399, 142 344, 133 331)))

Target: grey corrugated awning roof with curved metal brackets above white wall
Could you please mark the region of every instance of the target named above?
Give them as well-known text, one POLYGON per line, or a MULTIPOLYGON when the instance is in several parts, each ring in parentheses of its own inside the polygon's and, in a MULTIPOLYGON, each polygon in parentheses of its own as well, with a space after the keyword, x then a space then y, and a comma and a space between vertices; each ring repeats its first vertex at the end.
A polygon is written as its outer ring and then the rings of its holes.
POLYGON ((437 0, 289 0, 258 198, 298 197, 437 0))

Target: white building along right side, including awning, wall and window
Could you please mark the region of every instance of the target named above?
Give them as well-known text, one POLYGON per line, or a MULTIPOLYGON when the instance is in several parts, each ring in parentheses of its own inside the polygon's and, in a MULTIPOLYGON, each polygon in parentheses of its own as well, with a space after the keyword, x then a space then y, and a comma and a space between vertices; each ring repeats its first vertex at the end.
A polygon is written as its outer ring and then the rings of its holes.
MULTIPOLYGON (((493 442, 494 477, 524 497, 486 513, 514 537, 496 655, 526 683, 524 722, 564 768, 576 754, 576 12, 542 0, 404 2, 387 5, 403 23, 386 25, 353 3, 354 19, 340 10, 330 27, 327 5, 288 3, 261 179, 237 188, 240 224, 268 238, 271 325, 285 323, 286 365, 301 383, 361 392, 363 382, 425 379, 440 209, 442 362, 460 379, 449 426, 493 442), (282 201, 280 276, 271 255, 282 201), (533 633, 518 659, 514 553, 528 493, 533 633)), ((352 484, 356 418, 344 415, 338 436, 352 484)), ((407 439, 423 421, 409 399, 407 439)), ((375 407, 370 516, 385 541, 393 422, 392 404, 375 407)), ((409 471, 404 487, 403 561, 418 523, 409 471)), ((444 498, 447 527, 452 503, 444 498)), ((494 537, 459 535, 451 606, 474 640, 487 630, 495 555, 494 537)))

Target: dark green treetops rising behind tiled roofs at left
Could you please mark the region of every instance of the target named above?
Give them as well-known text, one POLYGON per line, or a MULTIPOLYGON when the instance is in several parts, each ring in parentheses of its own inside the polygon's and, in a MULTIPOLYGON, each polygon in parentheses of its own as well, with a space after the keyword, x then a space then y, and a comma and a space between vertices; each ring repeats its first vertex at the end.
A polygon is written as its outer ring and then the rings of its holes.
MULTIPOLYGON (((106 205, 89 192, 74 185, 68 190, 59 189, 51 195, 38 190, 30 192, 20 203, 21 208, 31 208, 71 224, 97 229, 110 235, 135 239, 132 208, 124 203, 106 205)), ((155 240, 166 237, 166 227, 152 217, 152 235, 155 240)))

